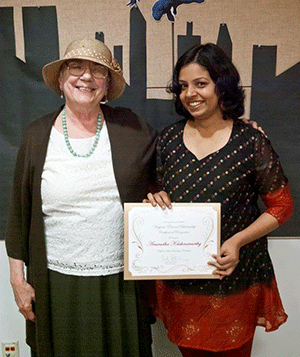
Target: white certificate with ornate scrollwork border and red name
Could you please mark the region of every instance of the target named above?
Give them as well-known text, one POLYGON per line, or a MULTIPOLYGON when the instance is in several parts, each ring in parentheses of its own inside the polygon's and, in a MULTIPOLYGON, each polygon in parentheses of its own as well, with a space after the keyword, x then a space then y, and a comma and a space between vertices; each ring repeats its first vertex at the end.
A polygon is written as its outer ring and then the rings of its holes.
POLYGON ((207 264, 220 248, 220 203, 125 203, 124 278, 218 278, 207 264))

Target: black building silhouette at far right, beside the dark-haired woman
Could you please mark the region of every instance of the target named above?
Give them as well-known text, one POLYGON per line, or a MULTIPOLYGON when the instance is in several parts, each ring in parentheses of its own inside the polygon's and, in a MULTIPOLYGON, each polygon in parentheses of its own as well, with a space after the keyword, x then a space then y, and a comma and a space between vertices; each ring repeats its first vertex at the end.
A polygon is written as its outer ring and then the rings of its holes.
POLYGON ((273 235, 299 236, 300 62, 276 76, 277 46, 254 46, 251 119, 266 131, 280 156, 294 196, 294 216, 273 235))

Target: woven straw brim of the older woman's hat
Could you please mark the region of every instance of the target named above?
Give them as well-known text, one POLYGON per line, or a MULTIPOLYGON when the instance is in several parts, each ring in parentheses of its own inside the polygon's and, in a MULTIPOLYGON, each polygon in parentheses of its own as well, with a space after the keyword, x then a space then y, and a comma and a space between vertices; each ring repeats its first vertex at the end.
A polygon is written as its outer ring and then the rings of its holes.
POLYGON ((44 78, 44 82, 48 85, 48 87, 54 91, 57 94, 61 94, 61 90, 59 87, 59 76, 61 72, 61 66, 63 63, 72 60, 72 59, 81 59, 81 60, 87 60, 95 63, 99 63, 102 66, 106 67, 109 70, 110 74, 110 82, 109 82, 109 88, 107 91, 107 100, 113 100, 119 98, 124 90, 125 90, 125 79, 124 77, 114 71, 111 67, 109 67, 106 63, 104 63, 101 60, 98 59, 93 59, 91 60, 90 57, 85 57, 85 56, 73 56, 68 59, 60 59, 56 60, 53 62, 50 62, 46 64, 43 67, 42 74, 44 78))

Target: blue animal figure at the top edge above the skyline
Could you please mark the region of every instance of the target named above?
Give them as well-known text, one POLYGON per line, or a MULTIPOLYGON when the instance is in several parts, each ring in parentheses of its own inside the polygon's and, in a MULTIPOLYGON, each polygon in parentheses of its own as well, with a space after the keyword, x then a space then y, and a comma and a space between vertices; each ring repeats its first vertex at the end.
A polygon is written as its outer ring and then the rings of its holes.
POLYGON ((152 7, 152 16, 155 20, 160 20, 164 14, 170 21, 175 21, 177 7, 182 4, 202 3, 205 0, 158 0, 152 7))

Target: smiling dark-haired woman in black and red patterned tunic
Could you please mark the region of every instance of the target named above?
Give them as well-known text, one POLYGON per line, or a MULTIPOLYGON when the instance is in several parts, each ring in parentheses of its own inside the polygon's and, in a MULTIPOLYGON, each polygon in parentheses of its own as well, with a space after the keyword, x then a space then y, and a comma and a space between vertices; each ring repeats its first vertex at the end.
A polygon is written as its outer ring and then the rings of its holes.
POLYGON ((248 357, 256 326, 273 331, 287 319, 266 235, 291 216, 292 197, 270 141, 238 120, 239 81, 218 46, 187 51, 170 88, 184 119, 163 130, 157 144, 163 191, 148 194, 153 205, 222 204, 222 246, 210 262, 220 279, 157 282, 156 314, 185 357, 248 357))

